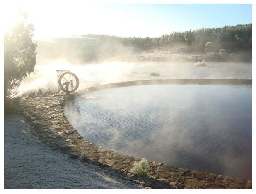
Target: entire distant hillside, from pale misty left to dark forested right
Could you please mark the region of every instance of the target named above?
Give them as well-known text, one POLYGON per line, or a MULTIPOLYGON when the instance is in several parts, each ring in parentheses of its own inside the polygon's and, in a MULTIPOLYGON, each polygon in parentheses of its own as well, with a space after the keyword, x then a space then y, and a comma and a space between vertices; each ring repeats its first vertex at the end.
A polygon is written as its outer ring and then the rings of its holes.
POLYGON ((239 59, 250 61, 252 58, 252 24, 173 32, 155 38, 123 38, 86 34, 81 37, 36 40, 36 42, 38 63, 54 59, 66 59, 74 64, 105 60, 150 60, 153 52, 155 53, 154 59, 164 60, 161 57, 163 52, 158 52, 159 50, 164 50, 168 59, 175 53, 175 56, 177 54, 206 56, 206 58, 187 56, 184 58, 186 60, 207 59, 207 56, 208 58, 210 56, 210 60, 219 61, 235 59, 235 54, 232 58, 229 54, 242 53, 239 59), (220 54, 217 54, 219 52, 220 54), (150 57, 145 57, 145 53, 146 55, 150 53, 150 57))

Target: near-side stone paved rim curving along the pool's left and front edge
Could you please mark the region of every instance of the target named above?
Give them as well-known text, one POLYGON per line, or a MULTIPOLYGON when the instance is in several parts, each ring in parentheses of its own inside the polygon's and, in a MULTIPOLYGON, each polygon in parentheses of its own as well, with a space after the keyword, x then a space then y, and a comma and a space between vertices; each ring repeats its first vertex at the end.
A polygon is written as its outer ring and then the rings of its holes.
POLYGON ((132 175, 130 169, 140 159, 104 149, 81 137, 63 112, 66 99, 66 96, 24 97, 19 100, 19 107, 31 121, 34 135, 70 154, 71 158, 80 157, 153 189, 252 189, 252 180, 187 170, 155 161, 149 162, 149 177, 132 175))

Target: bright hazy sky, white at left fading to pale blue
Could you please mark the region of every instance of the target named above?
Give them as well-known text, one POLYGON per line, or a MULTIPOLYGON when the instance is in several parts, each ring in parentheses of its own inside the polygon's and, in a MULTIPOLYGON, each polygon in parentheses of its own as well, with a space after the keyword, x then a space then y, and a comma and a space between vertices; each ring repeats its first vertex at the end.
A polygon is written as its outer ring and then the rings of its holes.
MULTIPOLYGON (((34 24, 35 38, 86 33, 117 36, 160 36, 172 31, 252 22, 251 4, 107 4, 85 1, 6 1, 5 23, 20 6, 34 24)), ((4 24, 8 26, 8 24, 4 24)))

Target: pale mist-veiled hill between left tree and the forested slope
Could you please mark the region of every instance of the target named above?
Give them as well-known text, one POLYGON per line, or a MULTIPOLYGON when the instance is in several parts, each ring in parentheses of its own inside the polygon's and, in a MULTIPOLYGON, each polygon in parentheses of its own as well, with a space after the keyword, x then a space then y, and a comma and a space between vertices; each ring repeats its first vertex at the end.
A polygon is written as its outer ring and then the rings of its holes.
POLYGON ((135 47, 102 41, 98 38, 57 38, 34 40, 37 42, 37 63, 65 59, 72 64, 101 62, 104 60, 131 60, 135 47))

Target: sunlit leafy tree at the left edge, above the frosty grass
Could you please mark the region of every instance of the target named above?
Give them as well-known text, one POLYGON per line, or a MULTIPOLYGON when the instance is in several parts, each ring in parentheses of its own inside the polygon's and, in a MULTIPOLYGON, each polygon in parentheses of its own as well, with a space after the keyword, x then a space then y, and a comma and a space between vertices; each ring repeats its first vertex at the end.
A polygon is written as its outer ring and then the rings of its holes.
POLYGON ((12 29, 4 33, 4 99, 22 80, 34 72, 36 65, 36 43, 32 42, 34 28, 27 24, 26 14, 19 13, 20 19, 12 29))

